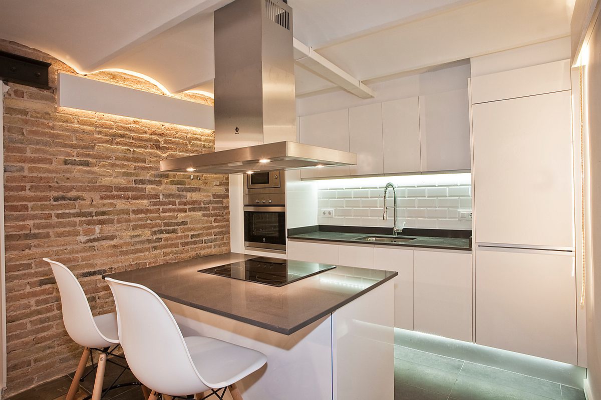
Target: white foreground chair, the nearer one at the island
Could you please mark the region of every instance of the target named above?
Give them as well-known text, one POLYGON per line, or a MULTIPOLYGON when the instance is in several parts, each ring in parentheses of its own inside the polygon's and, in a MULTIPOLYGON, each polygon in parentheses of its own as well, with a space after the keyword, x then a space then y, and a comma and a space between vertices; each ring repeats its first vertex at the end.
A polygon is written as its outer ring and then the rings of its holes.
MULTIPOLYGON (((227 389, 242 400, 236 382, 266 362, 258 351, 206 336, 184 338, 171 311, 153 291, 106 278, 117 305, 118 333, 136 378, 157 396, 187 396, 210 391, 223 399, 227 389)), ((200 396, 206 398, 204 396, 200 396)))

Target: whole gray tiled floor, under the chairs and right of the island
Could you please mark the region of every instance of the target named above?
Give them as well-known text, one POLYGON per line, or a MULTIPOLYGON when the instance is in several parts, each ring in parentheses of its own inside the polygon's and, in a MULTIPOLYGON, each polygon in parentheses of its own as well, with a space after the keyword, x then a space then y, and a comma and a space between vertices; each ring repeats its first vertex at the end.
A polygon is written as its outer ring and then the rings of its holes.
MULTIPOLYGON (((399 345, 394 356, 394 400, 585 400, 584 392, 573 387, 399 345)), ((121 368, 109 363, 105 387, 120 372, 121 368)), ((118 383, 131 381, 135 378, 126 371, 118 383)), ((70 376, 61 377, 10 400, 63 400, 70 384, 70 376)), ((81 383, 76 400, 90 395, 93 385, 94 374, 90 374, 81 383)), ((144 398, 140 388, 132 386, 112 390, 103 400, 144 398)))

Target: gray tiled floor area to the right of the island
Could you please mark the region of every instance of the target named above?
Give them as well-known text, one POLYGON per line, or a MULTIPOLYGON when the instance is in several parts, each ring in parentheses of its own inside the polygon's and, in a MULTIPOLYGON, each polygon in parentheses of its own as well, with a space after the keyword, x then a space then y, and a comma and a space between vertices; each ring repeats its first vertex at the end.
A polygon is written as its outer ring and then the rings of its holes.
POLYGON ((395 400, 585 400, 573 387, 399 345, 394 357, 395 400))

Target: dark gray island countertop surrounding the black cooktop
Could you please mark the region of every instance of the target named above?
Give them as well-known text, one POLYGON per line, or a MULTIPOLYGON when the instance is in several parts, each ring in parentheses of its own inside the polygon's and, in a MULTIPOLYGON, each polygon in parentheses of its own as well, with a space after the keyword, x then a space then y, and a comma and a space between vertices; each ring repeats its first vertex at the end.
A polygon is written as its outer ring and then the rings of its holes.
POLYGON ((337 266, 282 287, 209 275, 199 269, 254 258, 227 253, 103 275, 144 285, 163 299, 291 335, 397 276, 337 266))

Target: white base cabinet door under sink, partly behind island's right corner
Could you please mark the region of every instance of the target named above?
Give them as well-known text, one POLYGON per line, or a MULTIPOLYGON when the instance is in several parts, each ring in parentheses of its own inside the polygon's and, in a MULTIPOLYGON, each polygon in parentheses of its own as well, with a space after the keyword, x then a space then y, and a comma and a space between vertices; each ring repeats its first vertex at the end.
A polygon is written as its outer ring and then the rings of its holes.
POLYGON ((394 326, 413 330, 413 249, 376 247, 374 267, 396 271, 394 281, 394 326))

